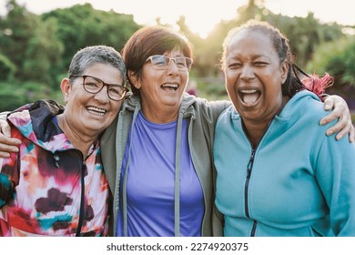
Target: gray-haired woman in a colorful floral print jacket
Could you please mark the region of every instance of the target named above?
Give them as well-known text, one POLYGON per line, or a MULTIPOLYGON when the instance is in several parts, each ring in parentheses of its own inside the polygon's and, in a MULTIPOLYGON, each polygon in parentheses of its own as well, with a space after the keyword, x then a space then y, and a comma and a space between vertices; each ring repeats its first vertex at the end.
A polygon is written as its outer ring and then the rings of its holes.
POLYGON ((0 158, 0 236, 105 236, 109 189, 98 137, 125 97, 126 67, 108 46, 76 53, 66 107, 37 101, 7 117, 19 153, 0 158))

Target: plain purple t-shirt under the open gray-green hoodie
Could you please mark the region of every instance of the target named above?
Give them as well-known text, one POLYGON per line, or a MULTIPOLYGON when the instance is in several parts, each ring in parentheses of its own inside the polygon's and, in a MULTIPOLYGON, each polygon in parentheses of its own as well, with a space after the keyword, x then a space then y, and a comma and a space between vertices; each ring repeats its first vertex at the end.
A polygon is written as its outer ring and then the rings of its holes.
MULTIPOLYGON (((188 148, 183 119, 180 168, 180 236, 201 236, 204 201, 188 148)), ((141 112, 133 128, 127 169, 127 236, 174 236, 174 179, 177 121, 155 124, 141 112)), ((117 236, 123 236, 122 194, 127 153, 122 165, 117 236)))

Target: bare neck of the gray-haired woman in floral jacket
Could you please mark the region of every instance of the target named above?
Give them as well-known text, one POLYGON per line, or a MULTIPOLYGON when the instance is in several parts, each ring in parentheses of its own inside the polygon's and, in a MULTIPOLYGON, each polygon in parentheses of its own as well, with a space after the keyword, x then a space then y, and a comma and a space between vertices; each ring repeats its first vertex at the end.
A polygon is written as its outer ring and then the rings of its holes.
POLYGON ((63 130, 66 137, 73 144, 73 146, 79 149, 84 158, 88 155, 89 148, 96 141, 98 135, 88 135, 86 133, 77 130, 75 125, 71 125, 71 122, 66 119, 65 114, 57 116, 59 128, 63 130))

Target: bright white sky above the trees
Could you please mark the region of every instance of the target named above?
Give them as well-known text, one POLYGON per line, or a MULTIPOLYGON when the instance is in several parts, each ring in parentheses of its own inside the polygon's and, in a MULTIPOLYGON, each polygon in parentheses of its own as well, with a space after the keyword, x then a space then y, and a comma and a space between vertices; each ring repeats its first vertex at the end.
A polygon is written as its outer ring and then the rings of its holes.
MULTIPOLYGON (((0 15, 5 13, 6 0, 0 0, 0 15)), ((41 14, 56 8, 90 3, 99 10, 113 9, 117 13, 133 14, 141 25, 153 25, 159 16, 162 23, 175 24, 180 15, 186 16, 191 31, 200 36, 208 32, 220 20, 235 17, 238 6, 248 0, 16 0, 20 5, 41 14)), ((276 14, 306 16, 309 11, 321 22, 338 22, 355 25, 355 1, 353 0, 265 0, 266 6, 276 14)))

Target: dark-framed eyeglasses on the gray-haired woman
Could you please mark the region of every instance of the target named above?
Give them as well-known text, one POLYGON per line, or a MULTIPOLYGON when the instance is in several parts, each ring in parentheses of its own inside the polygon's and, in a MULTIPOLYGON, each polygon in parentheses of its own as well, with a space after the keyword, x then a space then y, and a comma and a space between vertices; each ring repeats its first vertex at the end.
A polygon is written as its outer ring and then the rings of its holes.
POLYGON ((127 87, 119 84, 107 84, 96 76, 69 76, 69 78, 70 77, 83 77, 83 87, 86 92, 91 94, 97 94, 104 86, 107 86, 107 96, 114 101, 122 100, 128 91, 127 87))

